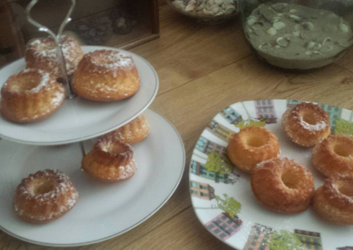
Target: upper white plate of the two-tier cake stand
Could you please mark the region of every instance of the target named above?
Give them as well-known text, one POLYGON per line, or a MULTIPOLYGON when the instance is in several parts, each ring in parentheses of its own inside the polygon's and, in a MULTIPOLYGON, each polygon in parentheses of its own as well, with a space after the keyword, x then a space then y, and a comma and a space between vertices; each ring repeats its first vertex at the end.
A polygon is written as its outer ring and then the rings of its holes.
MULTIPOLYGON (((113 49, 131 55, 140 75, 140 89, 132 97, 116 102, 95 102, 82 97, 65 100, 47 119, 34 123, 12 123, 0 116, 0 137, 32 145, 59 145, 88 140, 112 131, 141 114, 155 98, 158 76, 142 57, 126 50, 82 46, 84 53, 113 49)), ((25 68, 19 59, 0 69, 0 88, 10 75, 25 68)))

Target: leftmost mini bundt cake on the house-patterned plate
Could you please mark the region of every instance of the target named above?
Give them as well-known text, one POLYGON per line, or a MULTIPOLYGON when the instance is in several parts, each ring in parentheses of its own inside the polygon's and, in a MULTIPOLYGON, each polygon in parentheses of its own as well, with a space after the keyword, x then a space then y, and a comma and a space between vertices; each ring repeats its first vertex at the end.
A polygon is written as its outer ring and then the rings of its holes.
POLYGON ((277 137, 264 127, 247 127, 234 134, 227 147, 233 164, 250 172, 259 162, 276 158, 280 153, 277 137))

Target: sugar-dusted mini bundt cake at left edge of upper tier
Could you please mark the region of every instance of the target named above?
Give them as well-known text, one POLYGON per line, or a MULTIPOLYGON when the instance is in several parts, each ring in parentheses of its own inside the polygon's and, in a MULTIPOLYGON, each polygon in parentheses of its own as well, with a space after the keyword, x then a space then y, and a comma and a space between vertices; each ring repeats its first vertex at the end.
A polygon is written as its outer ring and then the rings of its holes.
POLYGON ((38 121, 53 114, 64 100, 64 87, 49 73, 25 69, 2 86, 0 114, 12 122, 38 121))

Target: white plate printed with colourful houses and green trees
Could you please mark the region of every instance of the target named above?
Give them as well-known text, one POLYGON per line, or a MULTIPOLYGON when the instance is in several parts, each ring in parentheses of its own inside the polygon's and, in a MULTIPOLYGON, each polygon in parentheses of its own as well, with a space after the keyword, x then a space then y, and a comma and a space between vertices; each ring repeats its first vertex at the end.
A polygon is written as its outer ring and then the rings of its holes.
MULTIPOLYGON (((251 191, 250 175, 239 171, 227 157, 226 147, 234 133, 246 126, 265 126, 279 139, 281 155, 304 164, 315 178, 315 187, 322 185, 324 177, 311 164, 311 148, 295 145, 281 128, 283 112, 297 103, 234 103, 213 118, 193 150, 189 180, 195 213, 211 234, 235 249, 353 249, 353 226, 331 224, 311 208, 281 215, 259 205, 251 191)), ((330 115, 332 133, 353 134, 352 111, 321 106, 330 115)))

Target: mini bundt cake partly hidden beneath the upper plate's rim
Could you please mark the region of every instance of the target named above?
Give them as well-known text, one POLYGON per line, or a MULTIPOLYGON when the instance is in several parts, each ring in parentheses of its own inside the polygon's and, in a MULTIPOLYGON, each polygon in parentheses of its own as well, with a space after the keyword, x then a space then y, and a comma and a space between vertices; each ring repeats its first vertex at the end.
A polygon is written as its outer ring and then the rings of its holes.
POLYGON ((150 125, 146 116, 142 114, 131 122, 108 133, 107 135, 115 136, 120 141, 126 142, 127 144, 135 144, 145 139, 149 133, 150 125))

